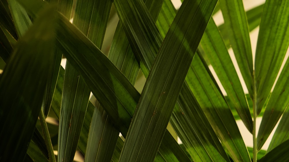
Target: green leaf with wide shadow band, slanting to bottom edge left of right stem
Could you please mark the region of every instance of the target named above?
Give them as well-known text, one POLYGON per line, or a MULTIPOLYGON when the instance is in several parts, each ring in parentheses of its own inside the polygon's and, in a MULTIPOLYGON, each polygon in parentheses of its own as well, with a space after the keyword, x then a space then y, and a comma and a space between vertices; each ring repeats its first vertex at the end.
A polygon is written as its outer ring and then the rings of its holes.
POLYGON ((208 73, 199 55, 195 55, 188 71, 186 81, 195 95, 198 103, 207 116, 222 145, 234 161, 250 161, 236 121, 224 100, 221 90, 208 73))

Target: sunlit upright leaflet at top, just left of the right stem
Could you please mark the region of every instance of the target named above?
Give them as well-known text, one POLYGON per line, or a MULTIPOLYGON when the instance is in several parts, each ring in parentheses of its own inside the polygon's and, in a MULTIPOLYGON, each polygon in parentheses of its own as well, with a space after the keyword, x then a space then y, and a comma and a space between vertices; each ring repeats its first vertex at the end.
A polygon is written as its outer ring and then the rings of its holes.
POLYGON ((225 20, 226 33, 229 35, 249 94, 253 98, 253 58, 243 2, 242 0, 221 0, 220 6, 225 20))

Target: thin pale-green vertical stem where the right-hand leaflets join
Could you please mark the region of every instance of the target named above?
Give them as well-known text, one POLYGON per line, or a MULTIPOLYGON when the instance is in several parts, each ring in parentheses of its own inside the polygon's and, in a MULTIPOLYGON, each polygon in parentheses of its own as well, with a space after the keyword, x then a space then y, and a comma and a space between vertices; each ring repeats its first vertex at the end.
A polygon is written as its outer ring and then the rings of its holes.
POLYGON ((254 96, 253 96, 253 162, 257 162, 257 139, 256 139, 256 119, 257 119, 257 87, 255 82, 255 70, 253 71, 254 78, 254 96))

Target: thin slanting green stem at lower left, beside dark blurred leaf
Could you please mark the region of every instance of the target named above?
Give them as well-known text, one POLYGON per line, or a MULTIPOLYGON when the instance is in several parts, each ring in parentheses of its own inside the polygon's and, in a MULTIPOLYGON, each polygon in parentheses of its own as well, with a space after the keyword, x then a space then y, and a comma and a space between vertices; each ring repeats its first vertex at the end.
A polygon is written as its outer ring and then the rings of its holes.
POLYGON ((48 150, 48 155, 49 155, 49 160, 52 162, 56 162, 55 159, 55 155, 53 152, 53 147, 52 147, 52 143, 51 143, 51 139, 50 139, 50 135, 49 135, 49 131, 48 131, 48 127, 45 121, 45 117, 44 117, 44 113, 43 110, 41 108, 40 113, 39 113, 39 120, 40 120, 40 124, 41 124, 41 128, 42 128, 42 132, 44 134, 44 140, 45 140, 45 144, 48 150))

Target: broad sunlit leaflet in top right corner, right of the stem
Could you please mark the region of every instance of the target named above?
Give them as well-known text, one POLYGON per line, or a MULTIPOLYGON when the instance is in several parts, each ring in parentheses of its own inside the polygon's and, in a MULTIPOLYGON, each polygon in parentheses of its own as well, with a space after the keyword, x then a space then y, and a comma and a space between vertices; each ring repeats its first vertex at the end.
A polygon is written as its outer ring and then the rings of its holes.
POLYGON ((255 58, 257 114, 268 97, 289 45, 289 1, 265 3, 255 58))

